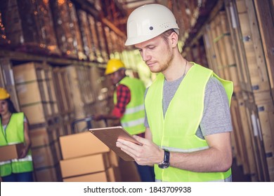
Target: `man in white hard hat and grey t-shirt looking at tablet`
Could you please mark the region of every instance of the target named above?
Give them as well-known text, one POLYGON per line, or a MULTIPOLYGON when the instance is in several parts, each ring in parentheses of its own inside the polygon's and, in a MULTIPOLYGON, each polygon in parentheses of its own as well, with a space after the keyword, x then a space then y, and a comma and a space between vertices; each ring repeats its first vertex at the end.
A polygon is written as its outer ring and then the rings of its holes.
POLYGON ((156 181, 232 181, 230 99, 233 83, 188 62, 178 50, 174 14, 160 4, 133 10, 125 45, 134 45, 159 73, 145 93, 143 146, 118 139, 139 165, 154 165, 156 181))

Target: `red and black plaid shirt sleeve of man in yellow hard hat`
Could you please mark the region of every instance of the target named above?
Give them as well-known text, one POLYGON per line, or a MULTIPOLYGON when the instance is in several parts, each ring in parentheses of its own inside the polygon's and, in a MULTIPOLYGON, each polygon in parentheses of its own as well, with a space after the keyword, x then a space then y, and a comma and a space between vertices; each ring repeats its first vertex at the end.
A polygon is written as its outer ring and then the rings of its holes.
POLYGON ((124 111, 126 111, 126 105, 131 101, 131 91, 126 85, 118 85, 116 92, 117 104, 112 111, 112 115, 122 118, 124 111))

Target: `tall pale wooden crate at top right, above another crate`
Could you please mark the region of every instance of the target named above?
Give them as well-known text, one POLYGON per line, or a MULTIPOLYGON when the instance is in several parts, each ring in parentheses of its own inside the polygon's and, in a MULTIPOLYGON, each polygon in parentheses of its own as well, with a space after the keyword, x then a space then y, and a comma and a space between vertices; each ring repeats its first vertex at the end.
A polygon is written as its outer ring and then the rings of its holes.
POLYGON ((249 92, 270 90, 266 62, 263 55, 259 25, 253 1, 237 0, 237 11, 235 16, 238 18, 240 31, 237 36, 238 45, 242 45, 244 63, 241 71, 244 71, 244 80, 241 82, 242 88, 249 92))

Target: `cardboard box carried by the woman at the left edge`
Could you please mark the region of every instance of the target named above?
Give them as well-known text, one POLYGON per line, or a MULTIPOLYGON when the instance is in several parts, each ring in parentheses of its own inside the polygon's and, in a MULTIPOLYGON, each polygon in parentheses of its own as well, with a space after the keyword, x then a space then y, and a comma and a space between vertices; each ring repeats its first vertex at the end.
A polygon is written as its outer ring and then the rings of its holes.
POLYGON ((0 161, 16 159, 20 155, 21 149, 24 147, 23 143, 13 144, 8 146, 0 146, 0 161))

